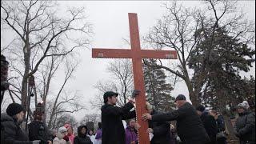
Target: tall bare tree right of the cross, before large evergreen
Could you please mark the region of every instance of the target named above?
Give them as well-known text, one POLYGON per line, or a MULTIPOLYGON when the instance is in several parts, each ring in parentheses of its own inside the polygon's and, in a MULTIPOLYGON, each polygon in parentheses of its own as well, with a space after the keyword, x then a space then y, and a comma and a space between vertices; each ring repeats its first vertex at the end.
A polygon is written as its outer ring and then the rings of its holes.
MULTIPOLYGON (((187 66, 191 52, 196 48, 198 42, 202 39, 200 33, 204 33, 206 27, 210 27, 209 37, 214 38, 215 30, 221 26, 226 26, 230 34, 242 38, 242 42, 254 43, 254 24, 244 20, 243 15, 238 13, 234 1, 206 1, 205 7, 190 10, 174 1, 171 4, 164 4, 167 13, 158 20, 158 24, 153 26, 144 38, 146 42, 157 46, 158 48, 170 48, 178 52, 178 63, 174 67, 154 65, 158 69, 165 69, 186 82, 190 93, 190 99, 194 106, 200 102, 199 92, 206 81, 210 67, 207 67, 204 73, 192 82, 191 74, 187 66), (197 34, 199 33, 199 34, 197 34)), ((207 35, 207 34, 206 34, 207 35)), ((210 50, 212 47, 207 47, 210 50)), ((145 64, 151 66, 149 63, 145 64)))

